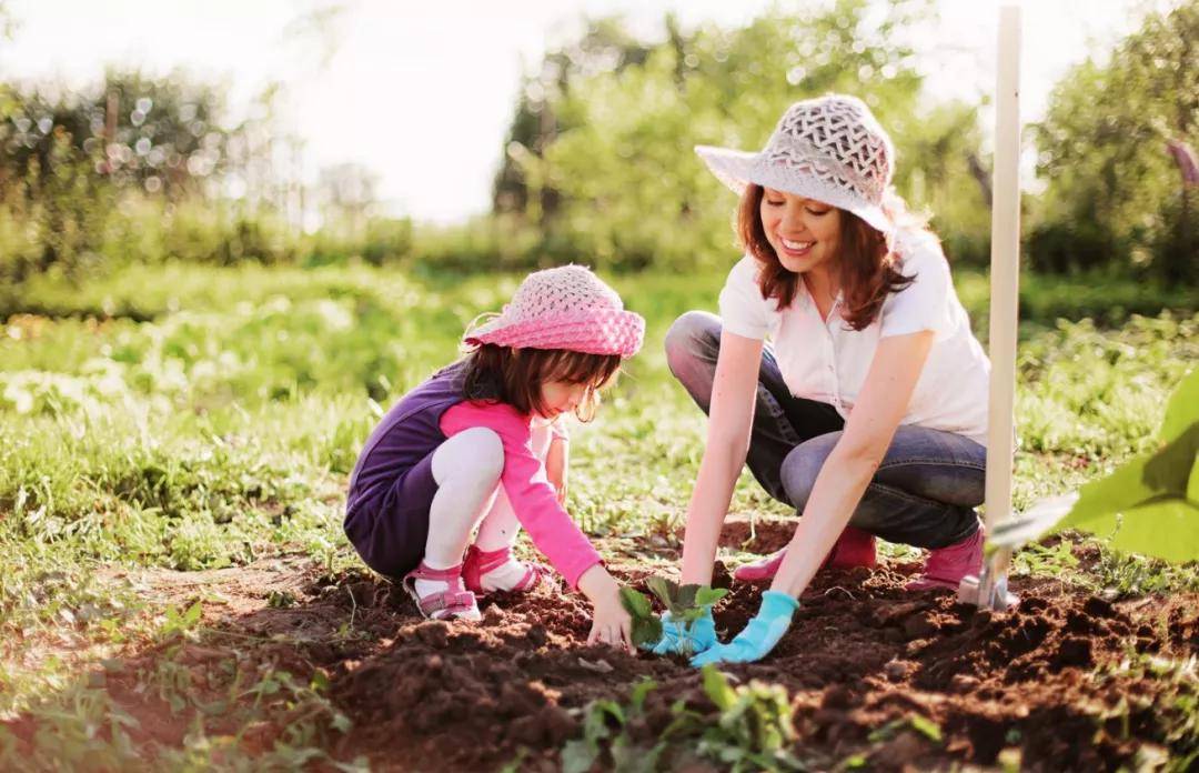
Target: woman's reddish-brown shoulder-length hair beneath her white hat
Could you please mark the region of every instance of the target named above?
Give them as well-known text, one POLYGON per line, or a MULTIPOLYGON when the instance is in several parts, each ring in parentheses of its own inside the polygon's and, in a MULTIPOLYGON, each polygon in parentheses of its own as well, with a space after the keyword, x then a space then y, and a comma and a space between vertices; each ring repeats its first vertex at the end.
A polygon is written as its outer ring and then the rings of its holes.
MULTIPOLYGON (((759 287, 763 298, 773 298, 779 308, 790 306, 799 292, 801 277, 789 271, 775 253, 761 224, 761 198, 765 188, 746 186, 737 209, 737 235, 741 244, 761 264, 759 287)), ((923 227, 920 218, 908 214, 902 202, 892 204, 893 215, 905 227, 923 227)), ((892 214, 892 212, 888 212, 892 214)), ((874 322, 882 301, 912 283, 896 269, 897 256, 887 248, 882 232, 857 215, 840 210, 840 292, 845 299, 842 317, 854 330, 862 330, 874 322)))

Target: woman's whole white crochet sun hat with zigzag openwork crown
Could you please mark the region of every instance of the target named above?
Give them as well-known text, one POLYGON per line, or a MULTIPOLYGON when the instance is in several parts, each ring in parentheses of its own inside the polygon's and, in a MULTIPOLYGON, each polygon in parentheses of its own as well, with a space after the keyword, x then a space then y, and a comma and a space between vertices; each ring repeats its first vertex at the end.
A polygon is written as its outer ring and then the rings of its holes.
POLYGON ((857 97, 829 94, 796 102, 760 152, 697 145, 722 182, 741 194, 753 182, 848 210, 884 233, 882 209, 894 148, 870 108, 857 97))

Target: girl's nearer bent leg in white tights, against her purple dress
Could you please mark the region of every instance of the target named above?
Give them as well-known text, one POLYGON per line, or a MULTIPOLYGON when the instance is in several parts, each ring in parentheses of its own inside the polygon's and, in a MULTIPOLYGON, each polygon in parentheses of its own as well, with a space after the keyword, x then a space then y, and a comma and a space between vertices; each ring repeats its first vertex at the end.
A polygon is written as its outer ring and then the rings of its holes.
MULTIPOLYGON (((504 445, 493 430, 471 427, 439 445, 432 462, 438 491, 429 505, 423 563, 433 570, 453 569, 462 564, 471 532, 495 498, 504 445)), ((442 580, 416 580, 421 597, 448 587, 442 580)))

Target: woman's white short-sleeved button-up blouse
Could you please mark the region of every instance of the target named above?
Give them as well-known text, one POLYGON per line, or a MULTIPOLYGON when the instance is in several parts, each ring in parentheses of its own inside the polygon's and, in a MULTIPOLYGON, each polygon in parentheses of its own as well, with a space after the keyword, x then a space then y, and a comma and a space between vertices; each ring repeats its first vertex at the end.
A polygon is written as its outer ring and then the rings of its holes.
POLYGON ((787 308, 763 299, 758 262, 748 254, 733 266, 721 290, 724 330, 771 340, 791 394, 832 405, 846 419, 879 340, 932 330, 933 348, 900 424, 956 432, 986 445, 990 361, 970 331, 945 253, 927 232, 900 234, 894 248, 899 272, 915 281, 888 295, 879 318, 863 330, 852 330, 840 318, 839 295, 827 322, 821 319, 803 282, 787 308))

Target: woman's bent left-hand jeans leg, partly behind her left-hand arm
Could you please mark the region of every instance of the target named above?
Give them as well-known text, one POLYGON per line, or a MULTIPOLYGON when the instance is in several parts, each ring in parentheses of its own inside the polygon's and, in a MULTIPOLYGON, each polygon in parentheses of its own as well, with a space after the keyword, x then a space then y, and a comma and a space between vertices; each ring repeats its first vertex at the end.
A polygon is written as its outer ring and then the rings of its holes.
MULTIPOLYGON (((670 372, 704 413, 711 406, 721 329, 721 318, 716 314, 688 311, 667 332, 670 372)), ((775 353, 769 344, 763 349, 746 463, 770 496, 779 502, 790 502, 779 471, 791 449, 808 438, 840 430, 844 424, 832 406, 793 396, 783 382, 775 353)))

